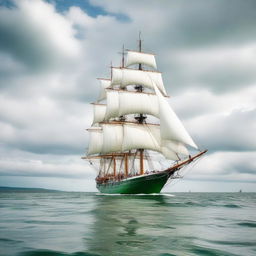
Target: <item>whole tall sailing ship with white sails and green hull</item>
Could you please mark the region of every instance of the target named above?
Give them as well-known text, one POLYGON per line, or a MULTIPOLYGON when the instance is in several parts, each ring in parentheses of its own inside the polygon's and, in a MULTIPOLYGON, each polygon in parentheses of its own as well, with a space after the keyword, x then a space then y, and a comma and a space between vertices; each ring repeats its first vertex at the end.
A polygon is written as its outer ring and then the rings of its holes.
POLYGON ((94 119, 82 159, 97 169, 101 193, 160 193, 179 170, 206 153, 169 105, 155 54, 142 52, 141 39, 137 51, 123 47, 122 64, 111 65, 110 78, 98 80, 100 95, 92 103, 94 119))

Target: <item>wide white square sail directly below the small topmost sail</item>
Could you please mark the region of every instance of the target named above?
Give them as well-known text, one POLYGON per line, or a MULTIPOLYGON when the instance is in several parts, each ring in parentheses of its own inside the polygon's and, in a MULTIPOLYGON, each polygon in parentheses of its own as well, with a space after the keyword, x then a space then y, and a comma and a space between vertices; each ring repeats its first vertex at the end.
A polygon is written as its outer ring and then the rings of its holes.
POLYGON ((127 85, 143 85, 147 88, 154 89, 153 83, 156 84, 163 95, 167 95, 163 84, 162 74, 159 72, 128 68, 112 68, 112 86, 120 85, 121 88, 124 88, 127 85))

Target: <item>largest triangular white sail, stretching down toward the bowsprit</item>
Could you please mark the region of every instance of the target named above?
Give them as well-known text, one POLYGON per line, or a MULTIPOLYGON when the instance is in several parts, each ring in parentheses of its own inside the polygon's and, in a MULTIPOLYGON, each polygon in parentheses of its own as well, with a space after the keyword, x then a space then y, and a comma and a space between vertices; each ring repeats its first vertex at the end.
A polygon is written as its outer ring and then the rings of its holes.
POLYGON ((155 91, 159 100, 159 114, 162 140, 172 140, 182 142, 191 147, 198 148, 190 137, 185 127, 177 117, 171 106, 161 95, 158 88, 155 86, 155 91))

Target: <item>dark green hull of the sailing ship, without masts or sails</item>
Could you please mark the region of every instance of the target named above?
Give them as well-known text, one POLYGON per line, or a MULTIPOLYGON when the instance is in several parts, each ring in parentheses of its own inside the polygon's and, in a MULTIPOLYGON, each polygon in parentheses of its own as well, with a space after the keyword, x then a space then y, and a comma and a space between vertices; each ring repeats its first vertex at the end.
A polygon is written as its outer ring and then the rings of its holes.
POLYGON ((97 184, 97 189, 106 194, 151 194, 159 193, 169 178, 166 172, 143 175, 122 181, 97 184))

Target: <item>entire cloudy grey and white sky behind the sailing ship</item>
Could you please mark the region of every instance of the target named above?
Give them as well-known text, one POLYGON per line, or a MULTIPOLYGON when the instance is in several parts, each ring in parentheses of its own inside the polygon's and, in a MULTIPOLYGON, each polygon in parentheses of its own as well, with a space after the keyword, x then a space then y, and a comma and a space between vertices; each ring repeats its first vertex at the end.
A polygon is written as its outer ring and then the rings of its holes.
POLYGON ((165 191, 256 191, 256 1, 0 0, 0 186, 96 191, 95 78, 122 45, 157 54, 170 104, 209 152, 165 191))

